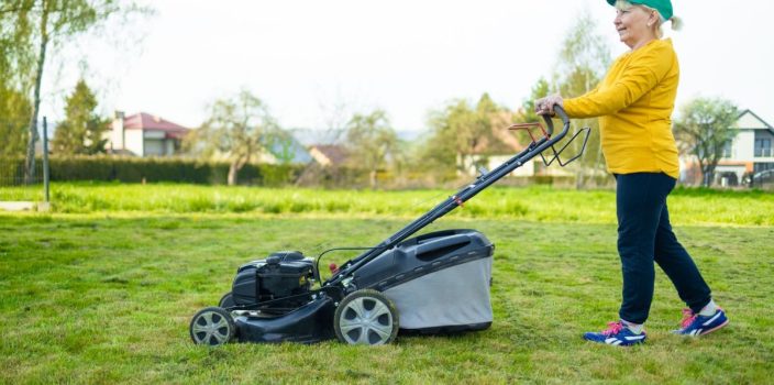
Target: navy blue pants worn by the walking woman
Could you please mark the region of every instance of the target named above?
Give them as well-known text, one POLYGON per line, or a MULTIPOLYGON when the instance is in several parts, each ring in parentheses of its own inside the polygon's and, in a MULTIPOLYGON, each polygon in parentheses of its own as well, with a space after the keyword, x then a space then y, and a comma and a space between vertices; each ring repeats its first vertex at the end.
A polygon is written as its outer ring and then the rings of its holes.
POLYGON ((675 285, 679 298, 694 311, 710 300, 699 270, 677 242, 670 224, 666 196, 675 179, 663 173, 617 174, 616 213, 618 254, 623 273, 623 301, 619 316, 644 323, 653 300, 653 261, 675 285))

